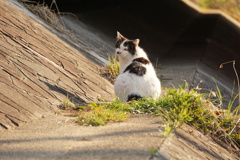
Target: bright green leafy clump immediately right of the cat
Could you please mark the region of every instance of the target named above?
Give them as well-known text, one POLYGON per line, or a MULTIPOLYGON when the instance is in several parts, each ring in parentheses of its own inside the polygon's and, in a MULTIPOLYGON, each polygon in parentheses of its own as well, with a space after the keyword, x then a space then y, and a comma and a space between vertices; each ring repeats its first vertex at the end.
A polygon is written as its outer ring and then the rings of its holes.
MULTIPOLYGON (((157 114, 167 122, 166 133, 190 124, 208 130, 213 115, 205 107, 205 98, 195 90, 188 90, 187 83, 179 89, 168 89, 161 100, 157 114)), ((168 135, 168 134, 167 134, 168 135)))

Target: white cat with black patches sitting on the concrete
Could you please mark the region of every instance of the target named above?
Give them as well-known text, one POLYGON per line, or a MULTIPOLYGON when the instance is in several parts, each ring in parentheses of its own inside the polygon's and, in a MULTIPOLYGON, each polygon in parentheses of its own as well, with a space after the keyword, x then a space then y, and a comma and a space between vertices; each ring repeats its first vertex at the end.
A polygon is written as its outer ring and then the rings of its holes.
POLYGON ((161 94, 160 80, 139 42, 139 39, 129 40, 117 32, 115 53, 120 73, 114 83, 114 92, 120 101, 129 102, 143 97, 157 99, 161 94))

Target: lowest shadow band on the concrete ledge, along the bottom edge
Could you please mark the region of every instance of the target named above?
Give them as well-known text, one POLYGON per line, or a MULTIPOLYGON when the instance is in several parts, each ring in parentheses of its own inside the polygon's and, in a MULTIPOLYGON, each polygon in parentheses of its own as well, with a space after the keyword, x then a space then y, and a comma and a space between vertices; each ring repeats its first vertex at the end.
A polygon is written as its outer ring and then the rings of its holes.
MULTIPOLYGON (((112 159, 115 158, 124 158, 124 159, 142 159, 146 155, 150 154, 146 150, 140 149, 92 149, 84 150, 75 148, 70 150, 65 154, 59 153, 58 151, 48 150, 48 151, 35 151, 35 150, 25 150, 25 151, 12 151, 9 153, 0 151, 0 157, 3 159, 112 159), (62 155, 63 154, 63 155, 62 155)), ((163 156, 162 156, 163 157, 163 156)), ((164 158, 165 160, 167 158, 164 158)))

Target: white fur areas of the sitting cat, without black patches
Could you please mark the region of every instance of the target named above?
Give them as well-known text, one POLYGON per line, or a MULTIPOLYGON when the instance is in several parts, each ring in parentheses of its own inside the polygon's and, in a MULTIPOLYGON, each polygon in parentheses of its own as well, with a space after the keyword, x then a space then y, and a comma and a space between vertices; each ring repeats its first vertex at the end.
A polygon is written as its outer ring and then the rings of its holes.
POLYGON ((123 43, 120 48, 116 48, 115 52, 118 54, 120 62, 120 74, 117 77, 114 84, 115 94, 119 100, 127 101, 128 96, 131 94, 137 94, 142 97, 152 97, 157 99, 161 94, 161 83, 156 76, 155 70, 152 64, 146 64, 146 74, 143 76, 137 76, 136 74, 129 73, 128 71, 123 73, 126 67, 132 63, 132 60, 139 57, 144 57, 148 60, 145 51, 137 46, 136 54, 133 56, 128 51, 124 50, 123 43))

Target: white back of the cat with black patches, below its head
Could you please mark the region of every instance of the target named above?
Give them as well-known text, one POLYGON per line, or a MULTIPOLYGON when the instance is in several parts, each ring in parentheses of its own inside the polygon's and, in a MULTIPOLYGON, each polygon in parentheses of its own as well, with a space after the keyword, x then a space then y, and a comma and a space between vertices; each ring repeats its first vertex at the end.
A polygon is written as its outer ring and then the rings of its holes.
POLYGON ((117 77, 114 90, 124 101, 129 95, 156 99, 160 96, 161 84, 150 61, 139 57, 133 59, 124 72, 117 77))

